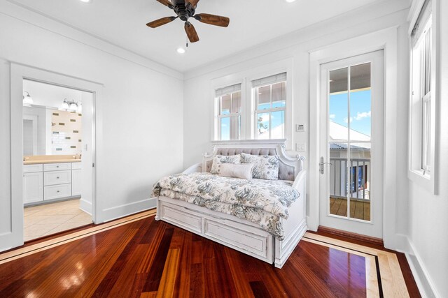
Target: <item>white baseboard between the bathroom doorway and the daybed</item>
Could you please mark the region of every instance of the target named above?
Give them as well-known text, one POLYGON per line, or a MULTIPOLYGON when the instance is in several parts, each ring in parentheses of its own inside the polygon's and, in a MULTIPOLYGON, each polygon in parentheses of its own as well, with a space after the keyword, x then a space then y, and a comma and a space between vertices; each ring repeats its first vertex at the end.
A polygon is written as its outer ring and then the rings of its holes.
POLYGON ((137 202, 132 202, 129 204, 123 204, 120 206, 104 209, 102 210, 102 216, 101 216, 101 218, 103 218, 102 223, 105 223, 107 221, 114 221, 118 218, 130 216, 132 214, 136 214, 141 211, 153 209, 156 206, 157 206, 157 198, 149 198, 137 202))

